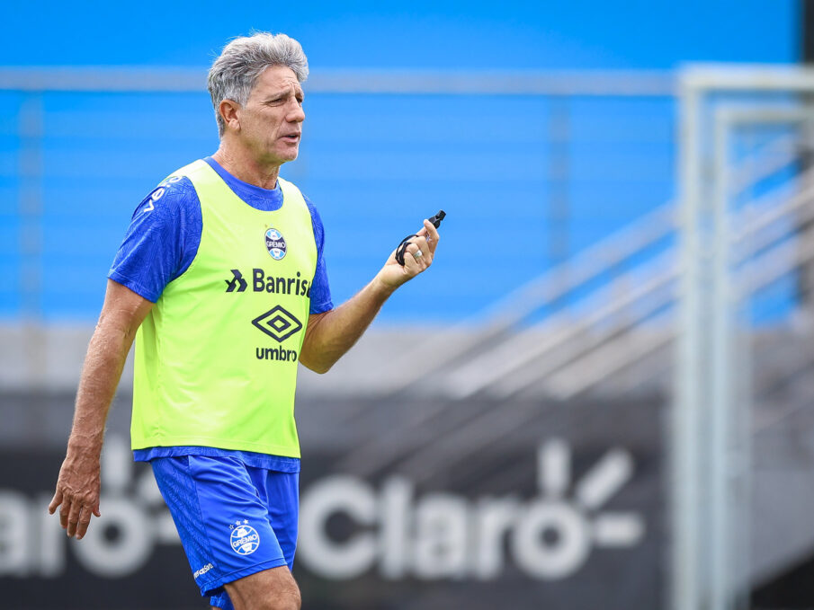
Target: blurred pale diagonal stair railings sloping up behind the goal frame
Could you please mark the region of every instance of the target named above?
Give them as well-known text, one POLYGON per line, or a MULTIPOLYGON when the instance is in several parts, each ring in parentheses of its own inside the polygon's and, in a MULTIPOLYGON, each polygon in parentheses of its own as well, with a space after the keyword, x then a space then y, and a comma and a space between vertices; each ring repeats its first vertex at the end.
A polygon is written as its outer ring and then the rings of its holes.
MULTIPOLYGON (((753 181, 795 164, 799 155, 800 147, 792 137, 770 140, 738 164, 733 171, 732 192, 739 193, 753 181)), ((773 192, 748 205, 742 214, 742 222, 737 224, 740 233, 736 241, 750 244, 750 249, 741 255, 746 258, 770 245, 774 239, 781 238, 786 230, 783 221, 798 214, 808 202, 806 198, 807 192, 798 193, 791 199, 784 193, 773 192), (753 239, 758 241, 751 242, 753 239)), ((382 393, 397 393, 420 380, 423 386, 435 387, 457 399, 482 391, 507 398, 531 385, 544 388, 547 376, 559 367, 568 362, 578 365, 581 355, 604 345, 610 337, 620 333, 627 336, 626 332, 636 330, 639 323, 658 309, 675 302, 675 287, 672 286, 677 277, 675 248, 668 246, 653 256, 648 252, 659 243, 668 243, 675 237, 677 228, 673 202, 656 208, 540 278, 517 288, 488 311, 406 350, 393 363, 399 371, 398 377, 386 375, 382 368, 380 375, 374 376, 380 384, 373 387, 382 393), (631 264, 637 258, 640 260, 631 264), (596 278, 613 275, 625 266, 628 266, 626 271, 600 285, 599 294, 591 291, 584 297, 593 302, 593 305, 581 307, 587 314, 574 314, 574 310, 580 307, 570 302, 566 311, 551 314, 544 322, 523 329, 523 324, 543 308, 566 301, 596 278), (649 299, 646 309, 626 320, 623 327, 608 324, 646 299, 649 299), (592 335, 587 342, 574 344, 592 329, 600 329, 599 334, 592 335), (485 346, 490 346, 489 355, 479 357, 485 346), (520 369, 526 370, 524 376, 507 381, 507 376, 520 369)), ((670 334, 672 331, 666 332, 670 334)), ((608 365, 613 363, 613 366, 605 370, 611 375, 635 361, 635 358, 619 358, 619 354, 613 353, 608 358, 608 365)), ((604 376, 597 376, 592 385, 602 378, 604 376)), ((589 385, 572 388, 568 395, 587 387, 589 385)))

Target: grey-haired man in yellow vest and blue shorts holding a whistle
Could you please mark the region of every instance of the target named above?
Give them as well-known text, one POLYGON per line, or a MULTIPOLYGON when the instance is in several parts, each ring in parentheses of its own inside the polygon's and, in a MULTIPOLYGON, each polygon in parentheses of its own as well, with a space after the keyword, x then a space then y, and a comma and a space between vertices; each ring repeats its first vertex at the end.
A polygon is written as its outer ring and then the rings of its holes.
POLYGON ((135 337, 134 454, 152 465, 201 595, 218 608, 300 607, 297 362, 326 372, 430 266, 439 239, 425 221, 404 266, 391 253, 333 307, 318 213, 278 176, 297 158, 307 76, 300 43, 283 34, 233 40, 212 65, 219 149, 171 174, 133 215, 49 505, 76 538, 100 516, 104 422, 135 337))

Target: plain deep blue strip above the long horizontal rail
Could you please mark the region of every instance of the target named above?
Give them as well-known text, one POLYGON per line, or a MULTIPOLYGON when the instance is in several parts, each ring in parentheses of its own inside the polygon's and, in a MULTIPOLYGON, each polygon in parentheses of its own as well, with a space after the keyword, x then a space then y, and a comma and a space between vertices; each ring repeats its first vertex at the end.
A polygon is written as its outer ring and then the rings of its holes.
POLYGON ((4 9, 4 65, 205 66, 228 38, 285 31, 313 68, 669 68, 792 62, 798 4, 721 2, 65 3, 4 9), (46 15, 43 18, 43 15, 46 15))

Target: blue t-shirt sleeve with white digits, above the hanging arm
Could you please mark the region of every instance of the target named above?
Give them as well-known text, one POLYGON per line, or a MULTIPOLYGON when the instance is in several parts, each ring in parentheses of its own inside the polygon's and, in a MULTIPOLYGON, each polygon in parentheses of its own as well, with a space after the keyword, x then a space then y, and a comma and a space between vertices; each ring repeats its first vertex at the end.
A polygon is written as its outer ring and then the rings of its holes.
POLYGON ((164 181, 139 203, 108 278, 155 303, 201 243, 201 202, 187 178, 164 181))

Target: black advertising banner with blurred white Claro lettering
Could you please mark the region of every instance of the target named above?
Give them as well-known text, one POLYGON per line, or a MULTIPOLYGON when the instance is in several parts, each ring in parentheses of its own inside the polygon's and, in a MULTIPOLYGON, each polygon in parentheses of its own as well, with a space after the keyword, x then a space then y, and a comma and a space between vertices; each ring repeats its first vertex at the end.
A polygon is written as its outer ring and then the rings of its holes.
MULTIPOLYGON (((486 444, 427 445, 425 433, 405 431, 398 454, 382 449, 378 461, 360 461, 375 448, 305 443, 295 564, 303 606, 661 606, 660 410, 568 408, 558 420, 562 405, 541 407, 522 432, 495 431, 486 444)), ((458 410, 471 407, 450 405, 446 416, 458 410)), ((63 451, 0 448, 4 607, 206 607, 151 469, 133 463, 126 436, 108 434, 103 517, 82 541, 47 512, 63 451)))

